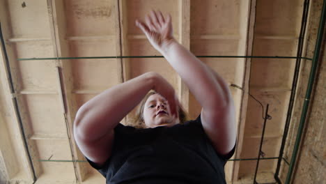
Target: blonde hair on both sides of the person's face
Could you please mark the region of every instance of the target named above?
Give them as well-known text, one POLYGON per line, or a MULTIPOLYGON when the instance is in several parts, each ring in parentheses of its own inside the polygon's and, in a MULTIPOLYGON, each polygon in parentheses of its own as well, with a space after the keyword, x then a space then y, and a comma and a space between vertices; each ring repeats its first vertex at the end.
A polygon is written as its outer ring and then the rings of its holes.
MULTIPOLYGON (((143 98, 143 100, 141 100, 141 102, 139 103, 139 106, 137 108, 136 111, 136 116, 134 118, 134 122, 132 123, 134 125, 134 127, 136 128, 146 128, 145 122, 143 121, 143 108, 145 106, 146 100, 150 97, 150 95, 154 95, 157 94, 156 91, 149 91, 145 97, 143 98)), ((181 124, 185 123, 185 121, 188 120, 188 116, 187 113, 185 112, 185 110, 183 109, 183 107, 181 105, 178 105, 178 113, 179 113, 179 121, 181 124)))

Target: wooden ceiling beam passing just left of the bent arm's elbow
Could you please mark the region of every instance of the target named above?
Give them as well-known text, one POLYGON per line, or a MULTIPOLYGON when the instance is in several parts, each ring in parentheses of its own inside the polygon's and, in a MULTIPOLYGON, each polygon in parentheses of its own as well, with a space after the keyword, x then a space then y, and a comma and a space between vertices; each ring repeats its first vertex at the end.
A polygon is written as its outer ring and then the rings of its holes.
MULTIPOLYGON (((49 15, 49 25, 52 36, 52 44, 54 48, 54 57, 69 56, 69 45, 65 39, 67 33, 66 22, 65 22, 65 8, 63 0, 47 0, 47 8, 49 15)), ((84 155, 77 148, 75 139, 73 139, 73 122, 77 107, 72 102, 72 68, 70 62, 62 62, 56 60, 56 66, 58 68, 58 81, 62 89, 58 89, 58 93, 63 93, 63 121, 65 121, 68 141, 70 142, 70 152, 72 160, 84 160, 84 155), (62 90, 62 91, 61 91, 62 90)), ((61 97, 59 97, 61 98, 61 97)), ((86 179, 86 167, 84 164, 79 162, 72 162, 74 164, 75 175, 77 182, 82 182, 86 179)))

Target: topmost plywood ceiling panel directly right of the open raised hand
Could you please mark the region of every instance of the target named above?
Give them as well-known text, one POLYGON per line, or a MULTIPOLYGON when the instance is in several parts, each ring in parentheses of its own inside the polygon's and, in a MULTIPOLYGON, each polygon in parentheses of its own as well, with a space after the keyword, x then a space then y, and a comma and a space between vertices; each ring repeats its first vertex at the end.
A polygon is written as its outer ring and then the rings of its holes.
POLYGON ((191 1, 190 28, 194 35, 238 35, 240 0, 191 1))

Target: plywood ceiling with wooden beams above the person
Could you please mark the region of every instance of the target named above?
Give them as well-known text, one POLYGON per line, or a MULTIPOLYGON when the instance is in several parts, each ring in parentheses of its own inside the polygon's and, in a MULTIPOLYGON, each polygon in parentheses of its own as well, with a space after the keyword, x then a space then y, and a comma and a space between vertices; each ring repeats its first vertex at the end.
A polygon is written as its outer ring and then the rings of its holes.
MULTIPOLYGON (((302 0, 0 0, 10 65, 8 72, 1 46, 2 176, 31 183, 34 171, 36 183, 104 183, 84 162, 72 139, 75 114, 104 89, 143 72, 159 72, 171 82, 191 118, 201 109, 162 58, 17 59, 160 55, 134 24, 151 9, 172 16, 174 36, 197 56, 296 56, 302 8, 302 0), (15 93, 10 91, 10 77, 15 93)), ((278 157, 295 59, 201 61, 219 72, 233 93, 238 120, 233 159, 258 156, 263 109, 254 98, 264 110, 270 105, 272 119, 267 121, 263 141, 265 158, 278 157)), ((121 123, 129 124, 132 116, 133 112, 121 123)), ((276 164, 274 159, 261 160, 257 181, 273 182, 276 164)), ((255 169, 256 160, 230 161, 226 178, 252 183, 255 169)))

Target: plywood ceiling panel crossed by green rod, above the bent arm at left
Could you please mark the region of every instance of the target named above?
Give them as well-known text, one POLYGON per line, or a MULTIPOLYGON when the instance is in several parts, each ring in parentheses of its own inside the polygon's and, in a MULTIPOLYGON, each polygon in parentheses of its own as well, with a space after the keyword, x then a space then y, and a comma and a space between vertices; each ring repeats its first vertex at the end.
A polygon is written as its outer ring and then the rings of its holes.
MULTIPOLYGON (((114 40, 72 41, 72 56, 115 56, 114 40)), ((72 64, 74 89, 106 89, 118 83, 116 59, 74 59, 72 64)))

